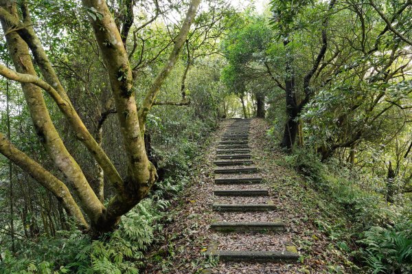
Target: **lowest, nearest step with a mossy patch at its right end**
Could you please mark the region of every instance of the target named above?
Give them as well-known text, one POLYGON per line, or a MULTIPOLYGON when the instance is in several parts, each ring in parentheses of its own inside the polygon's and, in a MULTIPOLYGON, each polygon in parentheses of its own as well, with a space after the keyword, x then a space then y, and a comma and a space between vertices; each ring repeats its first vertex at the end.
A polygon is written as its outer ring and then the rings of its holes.
POLYGON ((299 253, 290 251, 217 251, 219 260, 225 262, 297 262, 299 253))

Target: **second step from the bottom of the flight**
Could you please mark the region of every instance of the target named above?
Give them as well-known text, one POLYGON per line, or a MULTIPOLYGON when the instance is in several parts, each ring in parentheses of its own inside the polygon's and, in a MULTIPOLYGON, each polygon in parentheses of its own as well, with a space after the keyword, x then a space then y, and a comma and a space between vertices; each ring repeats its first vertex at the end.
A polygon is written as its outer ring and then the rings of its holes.
POLYGON ((210 229, 216 231, 284 231, 285 224, 276 222, 213 222, 210 229))

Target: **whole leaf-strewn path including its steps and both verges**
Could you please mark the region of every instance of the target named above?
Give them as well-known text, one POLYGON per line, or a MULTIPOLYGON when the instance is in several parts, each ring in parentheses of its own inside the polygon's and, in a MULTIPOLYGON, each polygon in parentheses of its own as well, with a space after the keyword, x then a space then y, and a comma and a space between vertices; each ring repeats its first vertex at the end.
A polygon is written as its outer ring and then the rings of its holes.
POLYGON ((282 163, 268 129, 227 119, 211 133, 142 273, 330 273, 339 255, 312 221, 319 198, 282 163))

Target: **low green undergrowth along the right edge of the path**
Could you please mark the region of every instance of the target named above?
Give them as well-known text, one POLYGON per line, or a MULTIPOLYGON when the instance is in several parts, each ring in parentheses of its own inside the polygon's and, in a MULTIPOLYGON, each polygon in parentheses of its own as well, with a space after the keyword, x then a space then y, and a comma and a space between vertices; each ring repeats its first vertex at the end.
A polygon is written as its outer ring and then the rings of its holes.
MULTIPOLYGON (((336 250, 361 266, 361 273, 412 273, 412 206, 402 199, 390 204, 379 191, 365 187, 359 176, 339 161, 322 163, 312 152, 296 149, 284 157, 319 194, 323 216, 315 225, 336 250)), ((376 180, 376 178, 374 178, 376 180)), ((382 178, 385 180, 385 178, 382 178)))

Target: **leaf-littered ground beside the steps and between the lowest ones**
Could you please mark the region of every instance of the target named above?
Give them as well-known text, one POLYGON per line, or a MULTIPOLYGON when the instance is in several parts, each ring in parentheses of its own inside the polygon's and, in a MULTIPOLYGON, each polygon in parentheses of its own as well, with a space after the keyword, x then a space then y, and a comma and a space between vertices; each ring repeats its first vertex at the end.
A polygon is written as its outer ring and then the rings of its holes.
MULTIPOLYGON (((353 264, 332 237, 317 228, 323 218, 331 218, 323 213, 321 196, 285 164, 285 155, 268 136, 269 126, 264 119, 251 120, 249 146, 254 165, 264 178, 260 188, 269 189, 269 203, 277 205, 278 209, 256 213, 212 211, 211 205, 216 199, 213 195, 216 146, 232 122, 230 119, 221 122, 220 128, 209 137, 203 155, 194 161, 192 184, 172 205, 169 222, 155 236, 158 240, 146 253, 145 268, 141 273, 351 273, 353 264), (236 214, 236 218, 243 221, 255 218, 260 221, 282 220, 286 231, 268 232, 263 236, 262 233, 218 235, 209 229, 209 225, 214 220, 225 219, 225 214, 236 214), (207 255, 216 244, 218 249, 284 250, 290 243, 299 251, 298 262, 217 262, 207 255)), ((229 199, 233 202, 239 197, 229 199)), ((245 203, 260 203, 260 198, 247 199, 245 203)))

